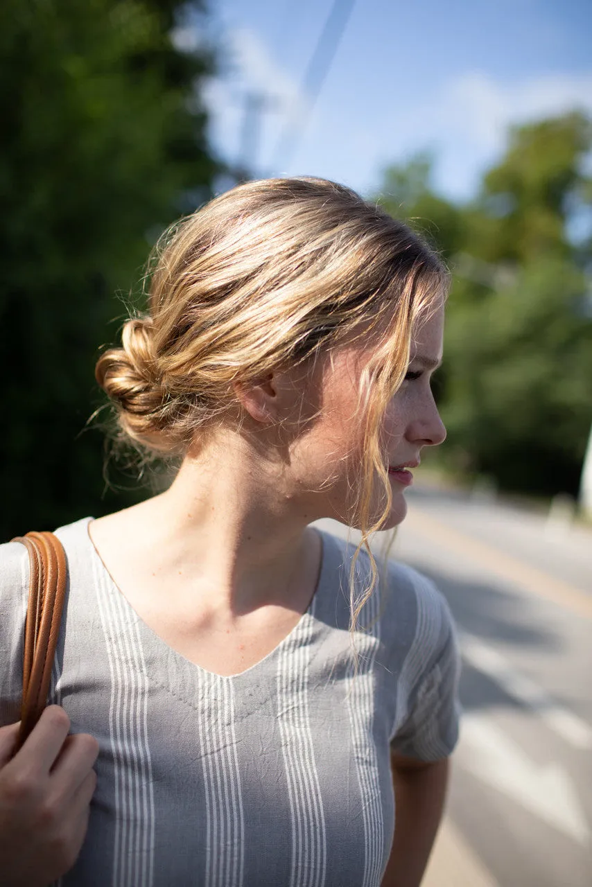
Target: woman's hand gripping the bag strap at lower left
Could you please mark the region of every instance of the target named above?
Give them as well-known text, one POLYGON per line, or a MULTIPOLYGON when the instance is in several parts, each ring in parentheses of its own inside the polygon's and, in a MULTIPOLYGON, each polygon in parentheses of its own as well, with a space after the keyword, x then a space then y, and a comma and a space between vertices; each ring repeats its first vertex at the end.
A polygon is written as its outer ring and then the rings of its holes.
POLYGON ((99 743, 68 736, 70 720, 50 705, 17 754, 19 725, 0 727, 0 872, 4 887, 46 887, 83 845, 99 743))

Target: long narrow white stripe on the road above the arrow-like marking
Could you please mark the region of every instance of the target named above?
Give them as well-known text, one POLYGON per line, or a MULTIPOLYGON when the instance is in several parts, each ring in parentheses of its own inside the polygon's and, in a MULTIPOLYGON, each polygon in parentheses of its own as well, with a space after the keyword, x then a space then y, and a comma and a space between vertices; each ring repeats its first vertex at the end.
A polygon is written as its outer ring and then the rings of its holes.
POLYGON ((556 703, 541 687, 519 674, 505 656, 468 632, 459 632, 462 655, 470 665, 493 678, 506 693, 535 711, 556 734, 581 750, 592 749, 592 728, 556 703))

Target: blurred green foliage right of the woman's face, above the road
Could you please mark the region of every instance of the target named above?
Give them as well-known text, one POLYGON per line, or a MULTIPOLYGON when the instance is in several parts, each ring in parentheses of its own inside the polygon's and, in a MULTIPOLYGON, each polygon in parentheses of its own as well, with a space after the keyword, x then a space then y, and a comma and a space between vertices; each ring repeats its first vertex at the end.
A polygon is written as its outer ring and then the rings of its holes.
POLYGON ((591 145, 583 114, 514 128, 463 205, 433 191, 423 155, 384 177, 383 204, 454 272, 438 386, 444 452, 508 490, 578 490, 592 421, 592 255, 589 236, 568 232, 590 210, 591 145))

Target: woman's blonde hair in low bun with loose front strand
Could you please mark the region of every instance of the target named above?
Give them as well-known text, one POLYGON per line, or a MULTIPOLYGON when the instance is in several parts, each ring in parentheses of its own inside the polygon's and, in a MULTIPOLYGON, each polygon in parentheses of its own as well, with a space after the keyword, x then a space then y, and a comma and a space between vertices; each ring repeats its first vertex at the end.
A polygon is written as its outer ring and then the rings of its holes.
POLYGON ((165 232, 151 268, 147 313, 125 323, 122 347, 107 349, 96 367, 115 405, 117 439, 145 460, 182 457, 223 422, 236 405, 233 382, 331 353, 361 328, 381 332, 359 380, 365 455, 356 478, 353 631, 377 579, 368 537, 391 509, 381 419, 407 371, 415 326, 446 294, 445 267, 382 208, 341 184, 301 177, 241 184, 210 201, 165 232), (370 525, 375 475, 386 506, 370 525), (372 578, 357 593, 362 546, 372 578))

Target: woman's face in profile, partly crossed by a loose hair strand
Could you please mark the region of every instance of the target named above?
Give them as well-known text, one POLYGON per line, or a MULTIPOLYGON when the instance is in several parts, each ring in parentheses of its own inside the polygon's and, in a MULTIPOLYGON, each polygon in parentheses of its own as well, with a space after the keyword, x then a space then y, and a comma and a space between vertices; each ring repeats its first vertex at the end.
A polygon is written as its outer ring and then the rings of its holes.
MULTIPOLYGON (((430 389, 431 374, 442 359, 443 334, 442 307, 417 331, 412 341, 406 380, 392 396, 383 416, 382 451, 388 465, 399 468, 399 471, 389 473, 392 505, 383 530, 396 526, 407 514, 404 493, 413 477, 406 467, 413 468, 419 464, 424 446, 438 445, 446 438, 446 429, 430 389)), ((351 483, 359 477, 362 441, 359 420, 354 422, 353 418, 359 374, 372 354, 370 346, 344 348, 336 353, 324 381, 320 419, 301 441, 299 449, 302 449, 297 462, 301 467, 304 467, 304 463, 306 466, 305 480, 303 476, 301 480, 309 490, 316 485, 320 491, 317 496, 323 499, 323 514, 315 514, 311 520, 317 516, 328 516, 359 529, 353 510, 358 491, 351 490, 351 483)), ((386 504, 381 488, 382 483, 375 483, 375 499, 370 512, 372 520, 380 516, 386 504)), ((319 498, 315 505, 320 505, 319 498)), ((317 508, 312 510, 316 512, 317 508)))

